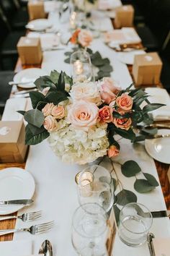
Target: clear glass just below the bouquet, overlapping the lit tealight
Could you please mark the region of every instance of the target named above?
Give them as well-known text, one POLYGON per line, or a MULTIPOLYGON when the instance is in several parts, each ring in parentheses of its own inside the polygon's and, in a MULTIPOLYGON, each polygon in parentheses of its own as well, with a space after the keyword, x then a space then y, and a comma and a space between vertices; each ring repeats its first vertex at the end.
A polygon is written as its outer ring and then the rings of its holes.
POLYGON ((109 171, 102 166, 89 166, 76 175, 80 205, 96 202, 108 212, 113 205, 113 184, 109 171))

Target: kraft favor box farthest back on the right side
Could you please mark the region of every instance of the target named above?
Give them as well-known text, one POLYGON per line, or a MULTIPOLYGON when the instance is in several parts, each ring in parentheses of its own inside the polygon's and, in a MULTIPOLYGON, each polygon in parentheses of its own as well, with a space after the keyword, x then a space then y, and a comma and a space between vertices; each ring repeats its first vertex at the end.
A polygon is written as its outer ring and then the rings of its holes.
POLYGON ((115 27, 133 27, 134 9, 133 6, 123 5, 115 10, 115 27))

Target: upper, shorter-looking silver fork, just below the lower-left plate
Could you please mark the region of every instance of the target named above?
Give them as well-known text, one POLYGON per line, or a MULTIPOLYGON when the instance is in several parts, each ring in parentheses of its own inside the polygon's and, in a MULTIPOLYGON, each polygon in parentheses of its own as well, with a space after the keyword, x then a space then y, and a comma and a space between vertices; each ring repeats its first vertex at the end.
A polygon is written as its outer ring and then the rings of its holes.
POLYGON ((41 217, 41 210, 38 210, 37 212, 33 212, 33 213, 23 213, 20 216, 3 216, 3 217, 0 217, 0 221, 11 220, 12 218, 20 218, 22 221, 27 222, 27 221, 34 221, 40 217, 41 217))

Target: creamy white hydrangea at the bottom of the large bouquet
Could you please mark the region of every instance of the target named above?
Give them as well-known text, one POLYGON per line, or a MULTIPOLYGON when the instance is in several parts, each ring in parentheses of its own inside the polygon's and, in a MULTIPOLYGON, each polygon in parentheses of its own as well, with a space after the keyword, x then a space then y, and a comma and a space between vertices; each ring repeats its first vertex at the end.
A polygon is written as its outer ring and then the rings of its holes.
POLYGON ((60 129, 50 132, 48 142, 56 155, 66 163, 90 163, 107 154, 109 142, 106 127, 93 127, 85 132, 74 129, 66 119, 58 122, 60 129))

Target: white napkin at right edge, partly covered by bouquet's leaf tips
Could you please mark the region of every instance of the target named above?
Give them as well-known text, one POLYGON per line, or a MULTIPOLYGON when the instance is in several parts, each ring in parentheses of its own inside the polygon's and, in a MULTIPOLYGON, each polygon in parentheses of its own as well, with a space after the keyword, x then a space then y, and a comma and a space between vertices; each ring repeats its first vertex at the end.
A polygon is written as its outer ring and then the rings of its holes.
POLYGON ((151 103, 166 104, 166 106, 162 106, 151 112, 153 119, 156 121, 170 120, 170 97, 166 89, 146 88, 146 93, 151 95, 151 97, 148 97, 151 103))

